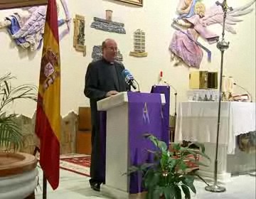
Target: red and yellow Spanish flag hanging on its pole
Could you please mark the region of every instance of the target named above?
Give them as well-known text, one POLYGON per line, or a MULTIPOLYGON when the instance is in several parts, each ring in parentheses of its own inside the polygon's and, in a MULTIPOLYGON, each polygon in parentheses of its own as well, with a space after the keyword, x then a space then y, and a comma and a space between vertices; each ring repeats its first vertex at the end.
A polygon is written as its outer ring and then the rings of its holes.
POLYGON ((40 165, 53 190, 60 174, 60 48, 56 0, 48 0, 36 110, 40 165))

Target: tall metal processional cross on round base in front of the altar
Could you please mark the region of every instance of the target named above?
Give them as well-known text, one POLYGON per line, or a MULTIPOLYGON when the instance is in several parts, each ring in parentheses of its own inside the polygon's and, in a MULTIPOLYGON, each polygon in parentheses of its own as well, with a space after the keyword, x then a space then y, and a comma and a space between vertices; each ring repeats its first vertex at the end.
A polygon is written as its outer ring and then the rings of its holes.
POLYGON ((220 104, 221 104, 221 94, 222 94, 222 77, 223 77, 223 58, 224 58, 224 51, 228 49, 229 42, 225 42, 225 18, 227 16, 228 9, 232 11, 233 9, 228 7, 227 0, 223 0, 223 3, 216 2, 218 6, 221 6, 223 9, 223 32, 222 32, 222 39, 218 41, 217 48, 220 50, 221 53, 221 60, 220 60, 220 89, 219 89, 219 100, 218 100, 218 126, 217 126, 217 138, 216 138, 216 151, 215 151, 215 164, 214 164, 214 183, 213 185, 206 186, 206 190, 214 193, 221 193, 225 192, 225 187, 219 186, 217 182, 217 173, 218 173, 218 141, 219 141, 219 134, 220 134, 220 104))

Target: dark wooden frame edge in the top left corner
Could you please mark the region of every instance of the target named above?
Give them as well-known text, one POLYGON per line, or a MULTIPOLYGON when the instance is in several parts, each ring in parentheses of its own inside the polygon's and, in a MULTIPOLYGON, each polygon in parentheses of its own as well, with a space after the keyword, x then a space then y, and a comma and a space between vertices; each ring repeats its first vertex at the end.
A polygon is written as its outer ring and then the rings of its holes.
POLYGON ((47 5, 48 0, 0 0, 0 10, 16 9, 25 6, 47 5))

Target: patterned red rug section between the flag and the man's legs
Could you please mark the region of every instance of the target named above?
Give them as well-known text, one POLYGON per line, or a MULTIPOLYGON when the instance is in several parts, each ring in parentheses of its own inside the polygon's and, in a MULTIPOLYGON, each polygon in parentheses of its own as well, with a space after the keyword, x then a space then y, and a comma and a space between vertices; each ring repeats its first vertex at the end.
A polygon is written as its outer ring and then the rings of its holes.
POLYGON ((60 156, 60 168, 90 177, 90 156, 85 154, 66 154, 60 156))

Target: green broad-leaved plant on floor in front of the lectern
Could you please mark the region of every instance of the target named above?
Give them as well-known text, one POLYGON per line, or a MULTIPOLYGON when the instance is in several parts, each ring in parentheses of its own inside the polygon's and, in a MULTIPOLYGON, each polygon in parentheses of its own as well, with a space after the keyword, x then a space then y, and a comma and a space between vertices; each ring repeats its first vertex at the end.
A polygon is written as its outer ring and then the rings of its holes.
POLYGON ((181 199, 181 190, 186 199, 191 198, 190 190, 196 193, 196 188, 193 185, 196 176, 195 173, 188 172, 186 161, 207 166, 197 160, 199 155, 210 161, 210 158, 204 153, 203 144, 193 143, 199 147, 199 150, 189 149, 190 145, 182 147, 181 144, 174 144, 172 146, 174 151, 169 151, 164 141, 159 141, 151 134, 144 136, 156 146, 156 151, 148 150, 154 154, 154 162, 131 166, 128 173, 142 172, 142 183, 147 191, 146 198, 181 199), (193 158, 188 157, 191 155, 193 158))

